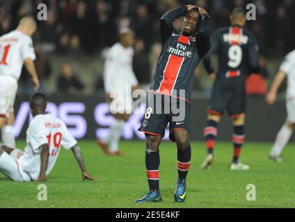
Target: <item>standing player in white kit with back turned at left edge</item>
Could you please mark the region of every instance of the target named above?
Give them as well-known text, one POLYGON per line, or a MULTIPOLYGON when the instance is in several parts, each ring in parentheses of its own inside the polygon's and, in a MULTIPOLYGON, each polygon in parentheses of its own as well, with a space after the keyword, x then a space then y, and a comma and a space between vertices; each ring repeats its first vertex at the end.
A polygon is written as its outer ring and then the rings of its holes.
POLYGON ((17 80, 21 75, 23 64, 31 76, 34 89, 39 88, 33 63, 35 52, 31 39, 35 30, 35 21, 30 17, 24 17, 15 31, 0 37, 0 130, 3 143, 7 146, 15 146, 13 104, 17 93, 17 80))

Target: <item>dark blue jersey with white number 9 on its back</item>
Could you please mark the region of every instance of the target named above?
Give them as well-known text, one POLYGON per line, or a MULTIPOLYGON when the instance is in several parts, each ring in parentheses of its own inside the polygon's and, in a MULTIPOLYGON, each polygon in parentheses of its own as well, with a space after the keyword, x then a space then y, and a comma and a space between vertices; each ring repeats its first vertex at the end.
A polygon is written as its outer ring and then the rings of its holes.
POLYGON ((245 77, 260 73, 259 53, 255 36, 241 26, 219 28, 211 38, 211 49, 204 58, 205 69, 214 71, 212 53, 218 56, 217 77, 245 77))

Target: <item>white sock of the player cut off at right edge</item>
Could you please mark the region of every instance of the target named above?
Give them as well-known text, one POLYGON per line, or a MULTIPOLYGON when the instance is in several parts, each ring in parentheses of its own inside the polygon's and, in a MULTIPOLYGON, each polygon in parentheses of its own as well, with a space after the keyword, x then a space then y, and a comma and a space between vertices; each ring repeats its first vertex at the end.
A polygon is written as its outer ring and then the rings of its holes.
POLYGON ((282 148, 286 146, 286 144, 289 142, 289 139, 292 135, 292 130, 284 124, 282 128, 280 128, 280 131, 278 132, 278 135, 276 137, 276 142, 273 144, 273 148, 271 149, 271 156, 277 157, 282 153, 282 148))

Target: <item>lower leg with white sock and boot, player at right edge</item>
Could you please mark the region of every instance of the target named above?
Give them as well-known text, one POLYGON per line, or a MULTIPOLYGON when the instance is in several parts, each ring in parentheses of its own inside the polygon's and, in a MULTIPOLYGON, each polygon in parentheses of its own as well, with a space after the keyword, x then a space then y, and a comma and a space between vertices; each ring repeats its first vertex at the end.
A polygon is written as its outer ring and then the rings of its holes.
POLYGON ((269 157, 271 160, 275 160, 278 162, 282 162, 282 149, 287 145, 289 142, 290 137, 295 129, 295 123, 290 123, 288 120, 284 123, 278 135, 276 136, 276 142, 273 144, 271 148, 271 153, 269 157))

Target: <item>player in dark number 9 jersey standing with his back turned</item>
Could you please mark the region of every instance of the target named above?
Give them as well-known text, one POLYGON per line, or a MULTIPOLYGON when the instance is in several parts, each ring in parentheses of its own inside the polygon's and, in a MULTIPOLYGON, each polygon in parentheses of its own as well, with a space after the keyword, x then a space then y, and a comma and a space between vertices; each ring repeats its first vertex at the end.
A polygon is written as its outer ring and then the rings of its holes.
POLYGON ((247 170, 248 165, 239 162, 239 153, 244 143, 244 118, 246 111, 246 76, 260 73, 258 47, 255 37, 244 28, 246 15, 242 8, 235 8, 230 15, 231 26, 218 29, 211 39, 212 47, 204 58, 207 72, 215 79, 212 96, 207 109, 207 126, 204 130, 208 155, 201 169, 210 169, 214 155, 217 125, 225 110, 232 117, 234 133, 234 157, 232 170, 247 170), (212 53, 218 56, 218 70, 211 65, 212 53))

